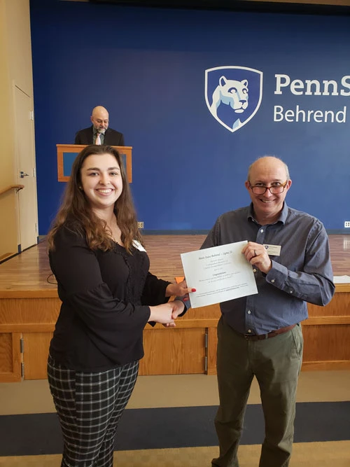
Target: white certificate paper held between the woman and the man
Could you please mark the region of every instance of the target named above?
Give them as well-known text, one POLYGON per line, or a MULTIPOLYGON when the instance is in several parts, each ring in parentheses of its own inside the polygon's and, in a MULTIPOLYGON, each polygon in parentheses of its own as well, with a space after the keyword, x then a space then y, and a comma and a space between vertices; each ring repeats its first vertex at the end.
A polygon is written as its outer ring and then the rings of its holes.
POLYGON ((241 253, 247 242, 181 253, 193 308, 258 293, 253 268, 241 253))

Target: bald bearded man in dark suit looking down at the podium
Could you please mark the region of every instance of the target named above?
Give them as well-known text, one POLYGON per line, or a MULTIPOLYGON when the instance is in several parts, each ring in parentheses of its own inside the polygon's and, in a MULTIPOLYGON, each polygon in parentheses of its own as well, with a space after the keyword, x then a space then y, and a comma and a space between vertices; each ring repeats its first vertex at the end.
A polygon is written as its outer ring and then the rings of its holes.
POLYGON ((74 144, 108 144, 125 146, 123 133, 109 128, 109 113, 102 106, 92 109, 92 126, 76 133, 74 144))

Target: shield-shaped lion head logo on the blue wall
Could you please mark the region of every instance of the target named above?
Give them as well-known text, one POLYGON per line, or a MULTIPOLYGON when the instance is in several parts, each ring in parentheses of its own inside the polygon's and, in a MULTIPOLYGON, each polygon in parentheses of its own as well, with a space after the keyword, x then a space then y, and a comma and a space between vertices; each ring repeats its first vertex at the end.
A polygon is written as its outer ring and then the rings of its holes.
POLYGON ((246 67, 216 67, 205 71, 205 101, 211 115, 235 132, 260 107, 262 71, 246 67))

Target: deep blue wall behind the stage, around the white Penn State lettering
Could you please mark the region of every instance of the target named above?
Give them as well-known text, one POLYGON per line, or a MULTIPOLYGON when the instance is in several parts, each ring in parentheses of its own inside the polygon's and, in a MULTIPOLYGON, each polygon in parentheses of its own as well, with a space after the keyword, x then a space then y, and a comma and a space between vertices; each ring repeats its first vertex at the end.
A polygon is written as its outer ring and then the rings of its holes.
POLYGON ((209 229, 248 204, 247 167, 265 154, 290 167, 290 206, 328 230, 350 219, 349 17, 31 0, 31 34, 41 235, 64 188, 55 144, 73 143, 95 105, 106 106, 111 127, 133 146, 132 192, 146 230, 209 229), (260 107, 235 132, 207 107, 205 70, 214 67, 263 74, 260 107), (277 95, 276 74, 318 80, 321 95, 288 87, 277 95), (337 82, 338 95, 324 95, 324 80, 337 82), (345 108, 346 118, 277 122, 275 106, 345 108))

